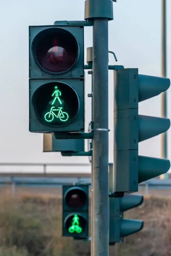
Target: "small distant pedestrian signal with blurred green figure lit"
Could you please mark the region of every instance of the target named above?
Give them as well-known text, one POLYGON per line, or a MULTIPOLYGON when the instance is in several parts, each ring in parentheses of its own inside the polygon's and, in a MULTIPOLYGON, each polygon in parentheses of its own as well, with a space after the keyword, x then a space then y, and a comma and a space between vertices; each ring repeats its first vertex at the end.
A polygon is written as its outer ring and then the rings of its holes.
POLYGON ((63 186, 62 236, 88 237, 88 187, 63 186))

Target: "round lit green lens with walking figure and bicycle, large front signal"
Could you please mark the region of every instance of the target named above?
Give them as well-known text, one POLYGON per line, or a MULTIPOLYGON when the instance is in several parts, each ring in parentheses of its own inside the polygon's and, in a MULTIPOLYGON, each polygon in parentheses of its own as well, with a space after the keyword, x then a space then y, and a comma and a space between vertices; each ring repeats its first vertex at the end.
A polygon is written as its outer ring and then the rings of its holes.
POLYGON ((45 83, 35 90, 32 105, 38 119, 50 127, 70 124, 79 111, 79 99, 75 90, 62 82, 45 83))

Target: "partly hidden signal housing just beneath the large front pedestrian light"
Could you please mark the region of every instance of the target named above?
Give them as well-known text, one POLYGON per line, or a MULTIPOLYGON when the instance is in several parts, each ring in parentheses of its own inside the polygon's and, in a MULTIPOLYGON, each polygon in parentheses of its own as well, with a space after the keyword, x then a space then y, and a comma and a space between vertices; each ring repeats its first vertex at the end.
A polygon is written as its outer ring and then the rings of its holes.
POLYGON ((84 139, 56 140, 53 134, 43 134, 43 152, 84 151, 84 139))

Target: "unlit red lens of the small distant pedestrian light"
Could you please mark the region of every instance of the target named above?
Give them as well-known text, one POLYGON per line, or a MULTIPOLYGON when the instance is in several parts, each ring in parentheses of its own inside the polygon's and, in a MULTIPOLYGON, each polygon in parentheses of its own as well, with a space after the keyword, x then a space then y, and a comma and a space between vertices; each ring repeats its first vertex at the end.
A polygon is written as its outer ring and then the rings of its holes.
POLYGON ((83 207, 86 202, 86 194, 80 189, 72 189, 66 195, 68 207, 83 207))

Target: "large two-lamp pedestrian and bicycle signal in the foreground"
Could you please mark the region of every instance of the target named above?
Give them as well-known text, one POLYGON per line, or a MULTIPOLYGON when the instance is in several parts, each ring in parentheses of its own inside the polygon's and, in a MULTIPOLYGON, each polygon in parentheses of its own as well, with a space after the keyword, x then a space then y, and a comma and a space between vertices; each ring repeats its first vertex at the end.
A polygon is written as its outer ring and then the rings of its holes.
POLYGON ((29 131, 84 132, 84 26, 29 26, 29 131))

